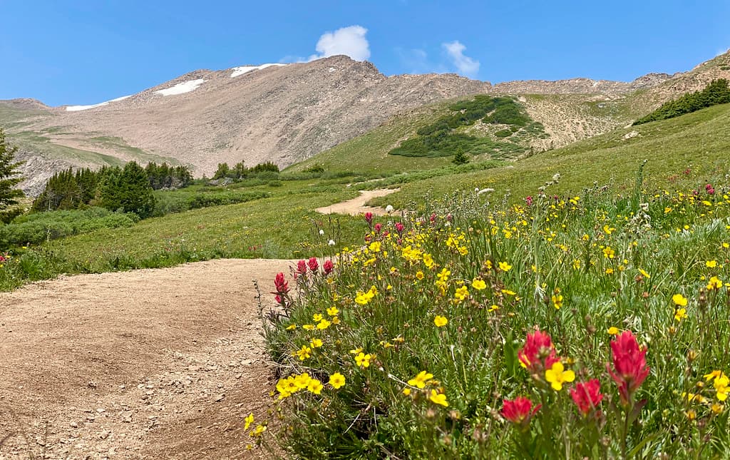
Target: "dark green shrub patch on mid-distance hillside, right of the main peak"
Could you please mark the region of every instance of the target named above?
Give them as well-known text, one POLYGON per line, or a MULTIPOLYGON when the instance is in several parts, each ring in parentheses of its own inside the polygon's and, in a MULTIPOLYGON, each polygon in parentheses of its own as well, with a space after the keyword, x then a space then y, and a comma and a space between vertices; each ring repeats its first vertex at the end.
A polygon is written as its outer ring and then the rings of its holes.
POLYGON ((527 112, 512 97, 475 96, 474 99, 458 101, 451 104, 450 113, 443 115, 434 123, 423 126, 416 133, 400 143, 389 153, 399 156, 452 156, 459 150, 464 153, 478 155, 489 153, 492 158, 501 156, 516 156, 526 151, 526 147, 515 142, 497 142, 488 136, 474 136, 459 129, 472 126, 481 120, 488 124, 506 124, 513 128, 496 131, 494 136, 504 138, 519 131, 522 127, 529 127, 532 131, 542 131, 542 125, 534 123, 527 112), (504 136, 504 131, 509 134, 504 136))

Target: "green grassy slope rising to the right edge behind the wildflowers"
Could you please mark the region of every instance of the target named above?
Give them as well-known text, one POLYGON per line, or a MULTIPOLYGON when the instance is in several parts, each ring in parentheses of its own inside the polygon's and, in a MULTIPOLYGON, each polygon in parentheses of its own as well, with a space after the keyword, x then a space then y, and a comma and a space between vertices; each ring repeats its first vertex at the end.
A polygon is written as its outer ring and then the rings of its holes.
MULTIPOLYGON (((455 189, 496 188, 496 193, 510 190, 515 198, 533 195, 537 187, 561 174, 555 193, 580 191, 594 181, 604 185, 613 180, 628 186, 647 159, 645 176, 650 185, 666 185, 675 175, 677 180, 695 183, 698 175, 712 175, 720 168, 726 172, 730 158, 730 105, 700 110, 671 120, 618 129, 591 139, 575 142, 561 149, 540 153, 514 164, 453 176, 450 180, 435 178, 409 183, 399 193, 388 196, 388 202, 406 204, 429 192, 434 196, 455 189), (639 135, 625 139, 636 131, 639 135), (691 168, 691 175, 682 175, 691 168)), ((376 199, 375 202, 383 202, 376 199)))

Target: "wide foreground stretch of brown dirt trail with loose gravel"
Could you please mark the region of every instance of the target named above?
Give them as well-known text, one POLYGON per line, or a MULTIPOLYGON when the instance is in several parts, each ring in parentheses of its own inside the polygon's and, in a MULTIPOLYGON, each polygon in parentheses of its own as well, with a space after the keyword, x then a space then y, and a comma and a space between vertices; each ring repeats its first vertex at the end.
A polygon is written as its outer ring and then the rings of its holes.
POLYGON ((215 260, 0 294, 0 460, 267 456, 245 450, 273 378, 253 280, 270 303, 290 266, 215 260))

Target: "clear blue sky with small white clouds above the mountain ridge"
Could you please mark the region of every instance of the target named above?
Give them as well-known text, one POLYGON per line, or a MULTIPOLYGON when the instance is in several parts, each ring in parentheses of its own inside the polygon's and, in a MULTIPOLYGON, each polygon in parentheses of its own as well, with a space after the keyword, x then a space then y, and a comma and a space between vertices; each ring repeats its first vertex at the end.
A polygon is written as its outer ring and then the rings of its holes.
POLYGON ((95 104, 333 53, 384 74, 630 81, 730 47, 730 1, 0 0, 0 99, 95 104), (702 7, 699 7, 699 4, 702 7))

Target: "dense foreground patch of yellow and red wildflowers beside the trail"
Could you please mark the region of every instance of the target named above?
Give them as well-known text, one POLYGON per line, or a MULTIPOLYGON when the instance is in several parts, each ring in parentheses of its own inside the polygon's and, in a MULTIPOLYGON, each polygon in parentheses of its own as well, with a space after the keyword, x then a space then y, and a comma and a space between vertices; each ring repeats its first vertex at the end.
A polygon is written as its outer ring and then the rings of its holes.
POLYGON ((521 206, 455 193, 409 221, 372 218, 358 249, 301 261, 272 286, 285 448, 723 456, 729 185, 540 188, 521 206))

